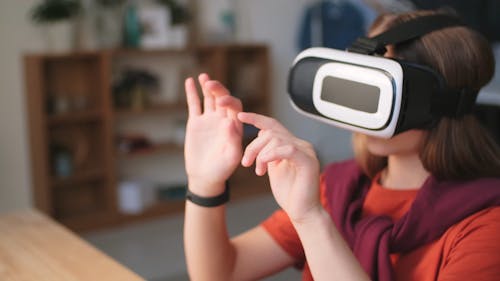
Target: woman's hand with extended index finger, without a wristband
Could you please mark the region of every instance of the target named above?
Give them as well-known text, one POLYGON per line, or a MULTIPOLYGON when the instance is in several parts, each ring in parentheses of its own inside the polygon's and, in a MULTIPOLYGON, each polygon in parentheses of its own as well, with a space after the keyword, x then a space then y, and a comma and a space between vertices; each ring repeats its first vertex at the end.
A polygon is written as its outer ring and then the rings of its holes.
POLYGON ((260 129, 241 164, 255 162, 257 175, 268 173, 273 195, 292 221, 306 220, 319 210, 319 161, 313 146, 275 119, 247 112, 240 112, 238 119, 260 129))

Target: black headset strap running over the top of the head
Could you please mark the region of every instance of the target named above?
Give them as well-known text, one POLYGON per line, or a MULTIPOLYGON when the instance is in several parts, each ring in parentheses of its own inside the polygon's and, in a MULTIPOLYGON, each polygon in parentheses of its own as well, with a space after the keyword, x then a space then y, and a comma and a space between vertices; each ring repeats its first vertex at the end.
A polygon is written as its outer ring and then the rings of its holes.
POLYGON ((460 25, 464 25, 464 23, 452 15, 439 14, 422 16, 398 24, 375 37, 360 37, 347 48, 347 51, 365 55, 372 55, 375 53, 383 55, 387 51, 385 48, 386 45, 402 43, 421 37, 432 31, 460 25))

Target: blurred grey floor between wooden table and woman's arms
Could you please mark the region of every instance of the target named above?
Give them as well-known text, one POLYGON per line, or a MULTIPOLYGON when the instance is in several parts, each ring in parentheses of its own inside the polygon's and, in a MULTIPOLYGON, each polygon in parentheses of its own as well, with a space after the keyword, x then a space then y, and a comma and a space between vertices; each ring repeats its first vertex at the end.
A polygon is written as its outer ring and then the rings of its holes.
MULTIPOLYGON (((271 195, 228 204, 231 235, 255 226, 277 208, 271 195)), ((183 216, 169 216, 140 224, 88 233, 84 239, 148 281, 188 280, 182 245, 183 216)), ((286 270, 266 281, 300 280, 300 272, 286 270)))

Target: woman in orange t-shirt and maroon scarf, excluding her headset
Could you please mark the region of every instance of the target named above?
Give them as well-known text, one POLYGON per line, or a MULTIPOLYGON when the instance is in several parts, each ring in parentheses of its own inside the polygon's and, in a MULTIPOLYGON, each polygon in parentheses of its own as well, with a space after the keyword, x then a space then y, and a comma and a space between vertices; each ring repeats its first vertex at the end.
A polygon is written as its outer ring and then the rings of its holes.
MULTIPOLYGON (((371 35, 432 11, 384 15, 371 35)), ((454 88, 492 77, 488 42, 465 27, 388 46, 388 57, 425 64, 454 88)), ((303 280, 495 280, 500 276, 500 153, 472 115, 443 118, 391 139, 355 134, 356 161, 320 176, 313 147, 276 120, 242 111, 217 81, 193 79, 185 158, 189 190, 224 193, 237 165, 268 174, 282 210, 233 239, 224 206, 187 201, 185 252, 193 280, 255 280, 289 266, 303 280), (260 129, 243 151, 242 123, 260 129), (348 187, 348 188, 347 188, 348 187), (351 188, 352 187, 352 188, 351 188)))

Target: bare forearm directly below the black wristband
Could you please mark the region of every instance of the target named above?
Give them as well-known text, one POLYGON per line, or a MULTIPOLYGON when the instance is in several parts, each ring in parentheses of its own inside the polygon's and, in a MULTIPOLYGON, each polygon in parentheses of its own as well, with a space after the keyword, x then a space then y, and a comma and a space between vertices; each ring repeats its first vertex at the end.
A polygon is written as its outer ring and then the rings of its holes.
POLYGON ((235 251, 225 221, 225 206, 186 202, 184 248, 190 280, 229 280, 235 251))

